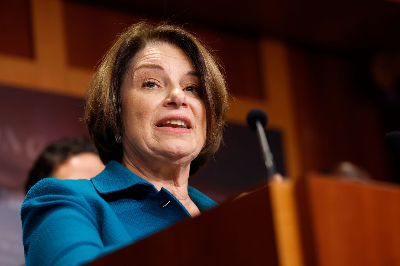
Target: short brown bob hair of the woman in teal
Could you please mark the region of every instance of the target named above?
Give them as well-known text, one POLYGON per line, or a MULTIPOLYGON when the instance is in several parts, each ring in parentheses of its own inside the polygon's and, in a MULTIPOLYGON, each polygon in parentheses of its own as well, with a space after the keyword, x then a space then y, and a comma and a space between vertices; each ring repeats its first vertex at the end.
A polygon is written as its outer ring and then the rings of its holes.
POLYGON ((218 57, 209 46, 180 26, 166 23, 153 25, 144 21, 126 28, 104 55, 88 86, 84 121, 102 162, 121 162, 122 145, 115 140, 117 134, 124 132, 120 86, 136 53, 148 44, 158 42, 181 48, 192 61, 202 82, 200 94, 206 107, 207 134, 202 150, 190 164, 190 174, 193 174, 220 146, 228 93, 218 57))

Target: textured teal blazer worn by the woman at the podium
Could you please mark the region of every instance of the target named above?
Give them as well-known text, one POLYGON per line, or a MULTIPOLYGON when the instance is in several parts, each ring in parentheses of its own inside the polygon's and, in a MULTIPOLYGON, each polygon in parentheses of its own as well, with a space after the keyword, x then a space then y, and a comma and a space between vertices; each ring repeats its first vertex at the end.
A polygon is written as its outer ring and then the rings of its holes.
MULTIPOLYGON (((188 192, 201 212, 218 205, 192 187, 188 192)), ((25 262, 80 265, 189 217, 169 191, 116 161, 91 180, 46 178, 22 204, 25 262)))

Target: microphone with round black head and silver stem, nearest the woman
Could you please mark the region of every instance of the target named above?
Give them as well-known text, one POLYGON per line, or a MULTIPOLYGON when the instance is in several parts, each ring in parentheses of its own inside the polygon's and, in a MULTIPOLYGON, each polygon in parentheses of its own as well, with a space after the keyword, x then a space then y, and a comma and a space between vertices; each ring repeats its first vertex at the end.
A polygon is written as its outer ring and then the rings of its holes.
POLYGON ((267 168, 268 178, 272 178, 276 174, 274 157, 268 146, 267 137, 265 136, 264 127, 268 123, 268 117, 261 109, 252 109, 247 114, 248 125, 257 132, 258 141, 260 141, 262 155, 264 156, 265 167, 267 168))

